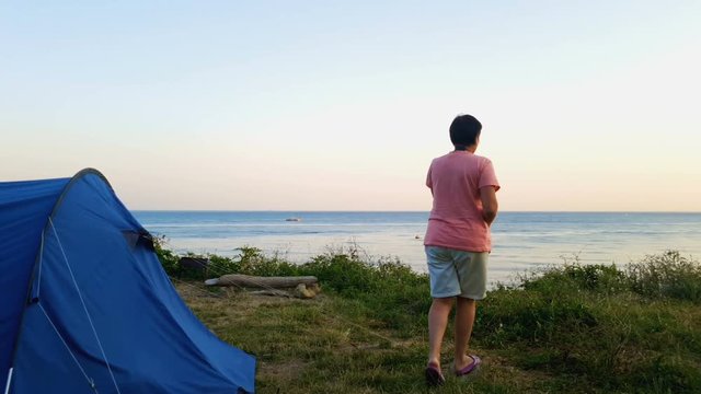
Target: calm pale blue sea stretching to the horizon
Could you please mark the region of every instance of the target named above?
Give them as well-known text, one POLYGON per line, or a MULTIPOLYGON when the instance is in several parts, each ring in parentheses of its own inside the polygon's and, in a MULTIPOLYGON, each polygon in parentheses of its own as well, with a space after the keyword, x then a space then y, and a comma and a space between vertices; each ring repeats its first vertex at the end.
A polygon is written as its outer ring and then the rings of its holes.
MULTIPOLYGON (((135 211, 179 252, 233 256, 255 246, 292 262, 349 246, 370 258, 399 257, 425 271, 428 212, 135 211), (291 221, 289 219, 295 219, 291 221)), ((578 256, 585 264, 625 263, 677 250, 701 256, 701 213, 503 212, 493 229, 490 278, 578 256)))

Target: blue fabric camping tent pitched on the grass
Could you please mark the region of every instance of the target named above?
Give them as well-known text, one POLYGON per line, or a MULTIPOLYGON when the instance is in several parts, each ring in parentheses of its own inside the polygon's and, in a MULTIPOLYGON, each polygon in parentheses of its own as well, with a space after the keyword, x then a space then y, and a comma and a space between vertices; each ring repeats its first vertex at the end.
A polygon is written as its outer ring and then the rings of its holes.
POLYGON ((95 170, 0 183, 0 393, 253 393, 95 170))

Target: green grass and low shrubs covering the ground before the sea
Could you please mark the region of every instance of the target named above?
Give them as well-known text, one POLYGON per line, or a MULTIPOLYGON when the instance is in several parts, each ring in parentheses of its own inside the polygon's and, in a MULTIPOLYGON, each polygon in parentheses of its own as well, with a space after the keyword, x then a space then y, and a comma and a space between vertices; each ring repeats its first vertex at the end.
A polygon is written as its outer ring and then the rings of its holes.
POLYGON ((701 392, 701 267, 676 252, 621 268, 575 259, 491 291, 471 343, 483 368, 437 390, 423 380, 425 275, 353 250, 303 265, 253 248, 209 258, 218 273, 315 275, 323 287, 297 300, 175 280, 212 332, 257 358, 260 393, 701 392))

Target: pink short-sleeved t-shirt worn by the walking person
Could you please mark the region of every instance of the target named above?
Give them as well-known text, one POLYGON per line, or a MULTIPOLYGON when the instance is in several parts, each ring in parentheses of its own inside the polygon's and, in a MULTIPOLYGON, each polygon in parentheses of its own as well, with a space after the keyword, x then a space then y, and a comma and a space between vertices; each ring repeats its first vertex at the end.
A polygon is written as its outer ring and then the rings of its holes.
POLYGON ((492 161, 469 151, 434 159, 426 186, 434 195, 424 245, 467 252, 491 252, 490 227, 482 218, 480 188, 499 183, 492 161))

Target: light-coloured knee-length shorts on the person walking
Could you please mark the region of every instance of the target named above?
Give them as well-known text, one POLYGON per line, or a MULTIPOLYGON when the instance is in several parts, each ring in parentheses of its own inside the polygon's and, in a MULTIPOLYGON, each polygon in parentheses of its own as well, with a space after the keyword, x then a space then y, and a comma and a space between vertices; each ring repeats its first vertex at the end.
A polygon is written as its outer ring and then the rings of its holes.
POLYGON ((486 297, 489 252, 464 252, 441 246, 426 246, 430 297, 486 297))

